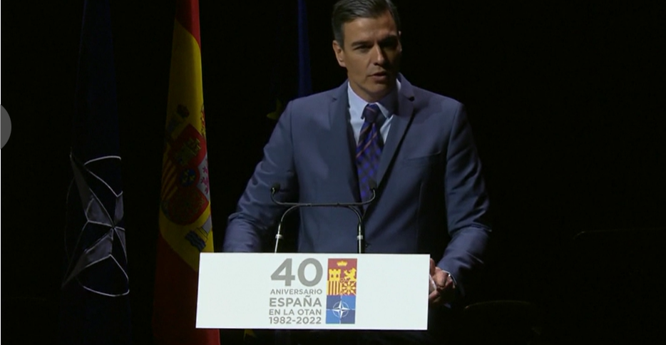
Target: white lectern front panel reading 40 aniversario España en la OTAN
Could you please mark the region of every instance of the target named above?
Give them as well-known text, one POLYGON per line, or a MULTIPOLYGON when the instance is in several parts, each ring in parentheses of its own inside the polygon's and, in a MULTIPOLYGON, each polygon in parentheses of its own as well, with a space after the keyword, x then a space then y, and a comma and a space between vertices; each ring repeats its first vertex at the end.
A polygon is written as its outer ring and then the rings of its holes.
POLYGON ((430 257, 204 253, 197 328, 428 328, 430 257))

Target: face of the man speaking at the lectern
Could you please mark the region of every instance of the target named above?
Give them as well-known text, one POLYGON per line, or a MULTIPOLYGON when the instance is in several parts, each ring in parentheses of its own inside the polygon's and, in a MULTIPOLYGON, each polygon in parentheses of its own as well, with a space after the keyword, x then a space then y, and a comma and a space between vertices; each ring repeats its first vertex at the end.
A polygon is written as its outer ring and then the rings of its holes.
POLYGON ((402 52, 400 33, 386 11, 377 18, 358 18, 342 26, 344 47, 333 41, 340 66, 347 68, 349 82, 357 95, 376 102, 396 86, 402 52))

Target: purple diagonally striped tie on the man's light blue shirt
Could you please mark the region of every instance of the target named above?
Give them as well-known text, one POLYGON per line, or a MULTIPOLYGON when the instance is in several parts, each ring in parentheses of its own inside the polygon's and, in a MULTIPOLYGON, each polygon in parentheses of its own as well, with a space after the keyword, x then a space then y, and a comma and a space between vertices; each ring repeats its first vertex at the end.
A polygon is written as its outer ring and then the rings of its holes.
POLYGON ((378 115, 381 115, 381 111, 376 104, 366 105, 363 110, 365 122, 361 128, 361 135, 359 135, 359 143, 356 148, 356 163, 362 201, 369 200, 372 195, 370 180, 374 180, 379 169, 382 140, 377 124, 378 115))

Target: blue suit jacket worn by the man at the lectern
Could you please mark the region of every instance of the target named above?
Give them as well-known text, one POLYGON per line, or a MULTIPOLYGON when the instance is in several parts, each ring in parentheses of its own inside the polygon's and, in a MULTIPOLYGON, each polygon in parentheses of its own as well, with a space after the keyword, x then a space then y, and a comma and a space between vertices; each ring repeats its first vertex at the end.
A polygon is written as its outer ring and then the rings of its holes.
MULTIPOLYGON (((365 211, 368 253, 431 254, 460 292, 483 264, 491 232, 481 163, 463 105, 412 86, 399 76, 399 110, 391 122, 365 211)), ((292 101, 265 146, 247 189, 229 218, 224 251, 260 252, 275 235, 282 201, 359 200, 348 83, 292 101)), ((299 252, 357 252, 357 216, 343 208, 302 208, 299 252)))

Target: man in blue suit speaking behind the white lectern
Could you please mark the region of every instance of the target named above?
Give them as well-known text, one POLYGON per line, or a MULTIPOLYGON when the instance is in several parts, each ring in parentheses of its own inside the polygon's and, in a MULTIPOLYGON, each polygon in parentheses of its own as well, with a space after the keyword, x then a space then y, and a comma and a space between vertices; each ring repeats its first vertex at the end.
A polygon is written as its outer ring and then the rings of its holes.
MULTIPOLYGON (((352 334, 344 341, 431 344, 449 333, 442 317, 465 296, 491 232, 471 128, 461 103, 399 73, 400 21, 390 0, 338 1, 332 26, 348 80, 287 105, 230 216, 224 250, 262 251, 285 211, 271 200, 276 184, 283 202, 361 202, 376 185, 375 199, 359 209, 365 252, 431 255, 431 323, 426 334, 352 334)), ((312 207, 299 215, 299 252, 357 252, 353 212, 312 207)), ((299 341, 343 341, 337 336, 299 341)))

